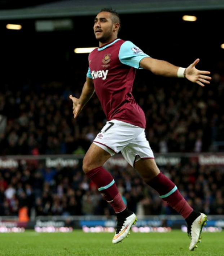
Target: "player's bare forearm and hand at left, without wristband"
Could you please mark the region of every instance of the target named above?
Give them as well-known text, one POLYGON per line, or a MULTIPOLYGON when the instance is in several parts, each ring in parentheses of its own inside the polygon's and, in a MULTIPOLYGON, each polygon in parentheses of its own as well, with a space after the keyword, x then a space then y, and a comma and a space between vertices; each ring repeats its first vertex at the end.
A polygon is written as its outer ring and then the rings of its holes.
POLYGON ((93 81, 91 78, 87 77, 79 99, 77 99, 76 97, 73 97, 72 95, 69 96, 69 98, 73 101, 74 118, 78 116, 78 114, 80 113, 84 105, 92 97, 94 92, 95 92, 95 89, 94 89, 93 81))

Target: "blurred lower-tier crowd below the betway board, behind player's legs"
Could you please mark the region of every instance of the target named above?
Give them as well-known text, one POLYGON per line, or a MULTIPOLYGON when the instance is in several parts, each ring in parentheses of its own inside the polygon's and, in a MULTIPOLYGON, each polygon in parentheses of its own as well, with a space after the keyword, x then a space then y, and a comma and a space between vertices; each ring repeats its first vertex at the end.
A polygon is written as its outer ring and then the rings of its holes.
MULTIPOLYGON (((22 207, 28 216, 114 215, 94 183, 73 167, 47 168, 41 162, 21 162, 18 168, 0 169, 0 216, 18 216, 22 207)), ((179 188, 188 203, 206 214, 224 214, 224 169, 200 166, 185 159, 174 166, 159 166, 179 188)), ((156 191, 145 185, 131 167, 108 168, 124 203, 139 216, 177 214, 156 191)))

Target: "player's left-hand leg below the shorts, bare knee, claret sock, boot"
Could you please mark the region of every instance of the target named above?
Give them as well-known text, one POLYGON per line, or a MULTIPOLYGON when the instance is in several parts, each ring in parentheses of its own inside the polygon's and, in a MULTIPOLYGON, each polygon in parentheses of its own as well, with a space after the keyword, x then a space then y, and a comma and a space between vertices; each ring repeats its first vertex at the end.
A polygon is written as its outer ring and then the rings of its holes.
POLYGON ((83 159, 83 171, 97 185, 98 191, 113 207, 117 215, 117 231, 112 240, 115 244, 127 237, 137 218, 126 208, 111 174, 102 168, 110 157, 111 155, 104 149, 92 144, 83 159))

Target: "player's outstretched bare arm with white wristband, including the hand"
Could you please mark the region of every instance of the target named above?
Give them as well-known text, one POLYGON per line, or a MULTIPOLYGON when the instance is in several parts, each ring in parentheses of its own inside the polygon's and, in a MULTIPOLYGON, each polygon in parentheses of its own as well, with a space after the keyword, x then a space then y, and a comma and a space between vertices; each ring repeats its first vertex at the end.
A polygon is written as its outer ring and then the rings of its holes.
POLYGON ((184 69, 167 61, 145 57, 140 61, 140 67, 150 70, 155 75, 162 75, 165 77, 185 77, 193 83, 205 86, 204 83, 210 83, 211 77, 208 76, 210 72, 196 69, 195 66, 198 62, 199 58, 184 69))

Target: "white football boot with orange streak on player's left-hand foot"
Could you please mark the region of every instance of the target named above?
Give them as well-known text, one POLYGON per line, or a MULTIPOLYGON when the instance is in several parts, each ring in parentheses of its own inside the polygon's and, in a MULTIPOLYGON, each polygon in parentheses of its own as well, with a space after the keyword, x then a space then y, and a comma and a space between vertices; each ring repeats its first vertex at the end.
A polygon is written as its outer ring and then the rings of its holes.
POLYGON ((118 218, 117 220, 117 229, 113 237, 112 243, 117 244, 122 242, 130 234, 130 229, 133 224, 137 221, 135 213, 132 213, 128 217, 118 218))

